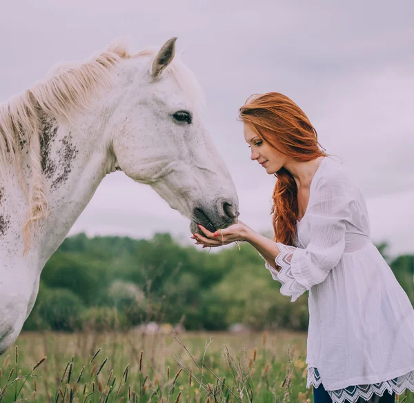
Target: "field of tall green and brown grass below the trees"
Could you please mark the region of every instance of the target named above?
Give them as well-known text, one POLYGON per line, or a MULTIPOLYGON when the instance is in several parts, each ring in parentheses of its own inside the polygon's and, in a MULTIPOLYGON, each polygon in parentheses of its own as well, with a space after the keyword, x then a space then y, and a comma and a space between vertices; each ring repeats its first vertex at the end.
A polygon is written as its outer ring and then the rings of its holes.
POLYGON ((306 333, 286 331, 23 333, 0 358, 0 402, 310 403, 305 357, 306 333))

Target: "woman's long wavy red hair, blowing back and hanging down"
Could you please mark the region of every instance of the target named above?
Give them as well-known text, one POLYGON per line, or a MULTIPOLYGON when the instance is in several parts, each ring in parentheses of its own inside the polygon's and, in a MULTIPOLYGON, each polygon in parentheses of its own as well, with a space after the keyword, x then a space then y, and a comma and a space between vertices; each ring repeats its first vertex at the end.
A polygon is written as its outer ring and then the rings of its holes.
MULTIPOLYGON (((250 96, 239 110, 239 119, 250 124, 269 146, 295 161, 328 156, 317 141, 317 132, 304 111, 279 92, 250 96)), ((273 239, 294 245, 298 218, 296 182, 285 168, 274 175, 277 181, 271 210, 275 231, 273 239)))

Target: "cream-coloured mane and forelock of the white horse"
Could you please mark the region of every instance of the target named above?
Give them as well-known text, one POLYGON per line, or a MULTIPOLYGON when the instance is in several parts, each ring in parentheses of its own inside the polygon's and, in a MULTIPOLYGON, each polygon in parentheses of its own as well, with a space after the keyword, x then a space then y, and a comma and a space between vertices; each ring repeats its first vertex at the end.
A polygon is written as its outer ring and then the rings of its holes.
MULTIPOLYGON (((71 121, 77 112, 92 104, 102 88, 112 86, 112 72, 119 62, 132 57, 154 57, 157 50, 146 48, 130 55, 126 45, 112 42, 108 48, 83 63, 66 63, 52 69, 49 76, 32 88, 0 105, 0 177, 6 177, 8 164, 15 164, 22 181, 19 151, 28 144, 30 183, 23 190, 28 199, 28 217, 23 226, 24 253, 27 252, 34 224, 48 213, 41 167, 41 121, 45 116, 71 121)), ((196 106, 204 101, 193 73, 175 57, 166 72, 174 77, 196 106), (177 60, 176 60, 177 59, 177 60)), ((22 182, 23 184, 23 182, 22 182)))

